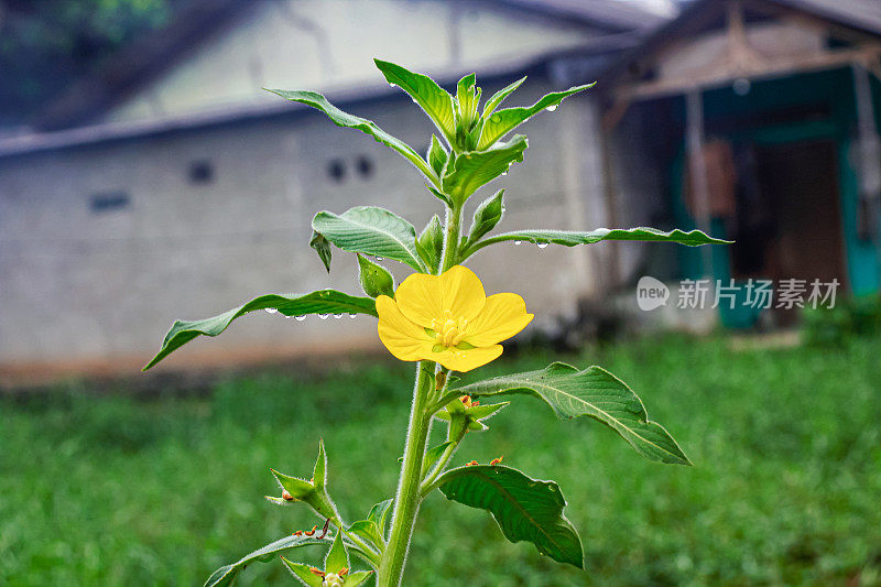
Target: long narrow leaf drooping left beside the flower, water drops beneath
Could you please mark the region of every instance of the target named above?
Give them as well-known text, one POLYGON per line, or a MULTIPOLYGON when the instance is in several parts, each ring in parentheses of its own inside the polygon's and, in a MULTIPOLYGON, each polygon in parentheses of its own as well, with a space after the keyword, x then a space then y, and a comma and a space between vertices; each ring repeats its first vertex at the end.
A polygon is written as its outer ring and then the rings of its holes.
POLYGON ((217 336, 227 329, 227 326, 249 312, 255 309, 276 309, 285 316, 302 316, 305 314, 368 314, 377 315, 377 305, 370 297, 356 297, 336 290, 319 290, 307 294, 286 295, 261 295, 244 304, 235 307, 213 318, 203 320, 176 320, 165 339, 162 348, 153 359, 143 368, 144 371, 155 366, 159 361, 167 357, 199 335, 217 336))

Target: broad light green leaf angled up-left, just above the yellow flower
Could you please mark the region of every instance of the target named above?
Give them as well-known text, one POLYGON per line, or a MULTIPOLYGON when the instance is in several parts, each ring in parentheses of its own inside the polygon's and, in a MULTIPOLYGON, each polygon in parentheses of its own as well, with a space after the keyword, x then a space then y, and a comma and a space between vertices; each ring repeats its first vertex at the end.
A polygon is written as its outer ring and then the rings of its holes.
POLYGON ((425 272, 416 252, 416 229, 384 208, 357 206, 341 215, 319 211, 312 228, 344 251, 393 259, 425 272))

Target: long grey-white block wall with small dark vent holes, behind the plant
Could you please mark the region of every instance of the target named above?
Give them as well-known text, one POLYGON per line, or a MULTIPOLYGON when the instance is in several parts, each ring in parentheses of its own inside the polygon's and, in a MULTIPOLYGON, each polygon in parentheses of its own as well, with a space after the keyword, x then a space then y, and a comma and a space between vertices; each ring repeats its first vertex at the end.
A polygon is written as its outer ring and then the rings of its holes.
MULTIPOLYGON (((550 89, 530 80, 511 102, 531 104, 550 89)), ((432 127, 409 99, 347 109, 414 148, 428 143, 432 127)), ((572 100, 523 127, 525 162, 478 192, 466 226, 499 187, 509 188, 502 229, 602 224, 590 217, 592 204, 573 213, 562 180, 569 164, 561 153, 562 126, 589 129, 590 112, 588 102, 572 100), (561 117, 568 106, 574 115, 561 117)), ((585 137, 577 174, 596 173, 591 134, 585 137)), ((586 202, 602 197, 591 192, 594 183, 580 181, 586 202)), ((361 204, 388 207, 417 230, 443 213, 405 160, 317 112, 0 160, 0 366, 97 361, 126 370, 146 362, 174 318, 213 316, 263 293, 327 286, 358 293, 352 254, 335 250, 327 275, 307 243, 316 211, 361 204), (371 177, 354 174, 358 156, 373 162, 371 177), (334 159, 348 167, 341 183, 326 172, 334 159), (214 165, 213 183, 189 182, 188 165, 197 160, 214 165), (129 208, 90 210, 94 194, 116 191, 130 195, 129 208)), ((521 293, 541 326, 573 312, 584 286, 573 271, 578 254, 498 244, 472 267, 489 293, 521 293)), ((378 347, 369 317, 296 322, 261 312, 216 339, 188 344, 167 362, 378 347)))

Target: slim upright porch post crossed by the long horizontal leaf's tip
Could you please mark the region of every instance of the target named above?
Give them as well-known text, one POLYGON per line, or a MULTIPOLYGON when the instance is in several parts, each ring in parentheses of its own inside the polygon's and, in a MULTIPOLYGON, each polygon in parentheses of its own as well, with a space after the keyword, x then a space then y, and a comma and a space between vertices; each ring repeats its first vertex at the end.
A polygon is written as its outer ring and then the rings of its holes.
MULTIPOLYGON (((704 95, 699 89, 685 95, 685 134, 688 169, 692 180, 692 200, 694 203, 697 227, 710 233, 709 178, 704 160, 704 95)), ((701 247, 705 276, 714 278, 711 247, 701 247)))

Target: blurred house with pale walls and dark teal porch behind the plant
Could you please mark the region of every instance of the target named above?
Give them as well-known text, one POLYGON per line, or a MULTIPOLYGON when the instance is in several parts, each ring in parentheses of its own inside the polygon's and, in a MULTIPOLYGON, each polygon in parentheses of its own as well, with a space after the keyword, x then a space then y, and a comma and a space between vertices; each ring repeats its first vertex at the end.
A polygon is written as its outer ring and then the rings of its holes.
MULTIPOLYGON (((529 75, 512 104, 599 81, 524 127, 526 159, 499 182, 505 228, 738 240, 481 252, 488 291, 521 292, 537 327, 645 273, 874 291, 880 47, 875 0, 696 0, 671 21, 616 0, 193 2, 0 141, 0 374, 131 369, 173 317, 354 292, 351 256, 328 276, 308 248, 312 216, 380 205, 418 230, 436 200, 396 154, 260 88, 317 89, 425 150, 429 123, 373 56, 447 87, 477 72, 485 93, 529 75)), ((167 362, 376 345, 367 318, 260 313, 167 362)))

